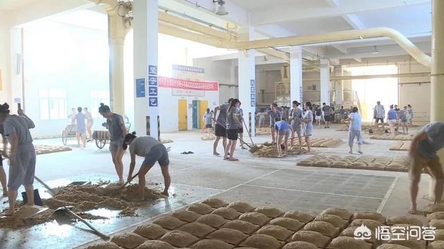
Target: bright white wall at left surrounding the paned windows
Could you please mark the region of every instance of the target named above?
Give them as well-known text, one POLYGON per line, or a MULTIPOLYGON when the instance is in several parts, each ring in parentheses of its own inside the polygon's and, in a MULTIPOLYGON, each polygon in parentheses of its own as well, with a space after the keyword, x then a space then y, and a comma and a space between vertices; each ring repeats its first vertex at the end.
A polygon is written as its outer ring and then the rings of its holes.
MULTIPOLYGON (((67 118, 40 120, 39 89, 65 89, 66 115, 71 107, 88 107, 99 116, 90 94, 109 93, 106 31, 35 21, 24 27, 24 54, 26 112, 36 124, 33 136, 61 134, 69 123, 67 118)), ((103 129, 102 122, 95 118, 93 129, 103 129)))

